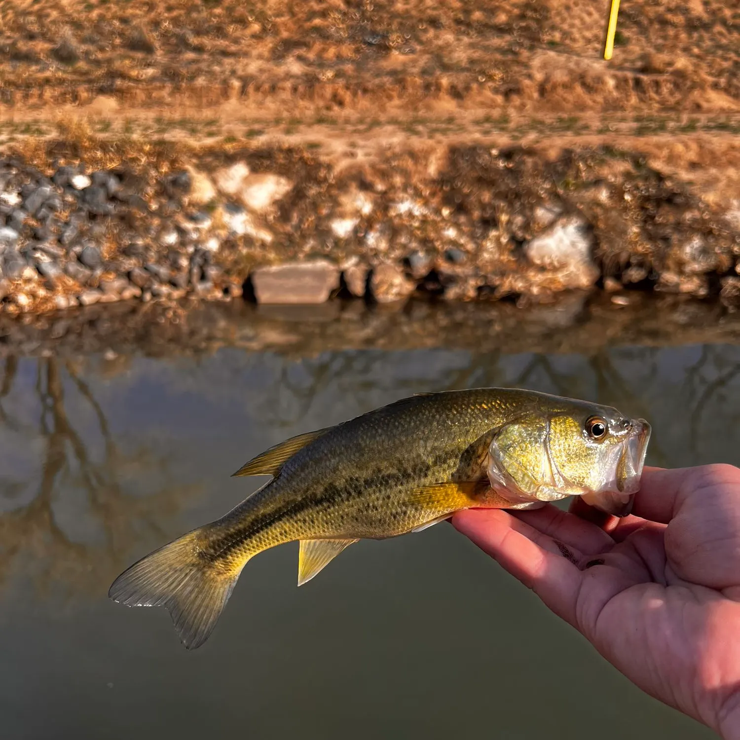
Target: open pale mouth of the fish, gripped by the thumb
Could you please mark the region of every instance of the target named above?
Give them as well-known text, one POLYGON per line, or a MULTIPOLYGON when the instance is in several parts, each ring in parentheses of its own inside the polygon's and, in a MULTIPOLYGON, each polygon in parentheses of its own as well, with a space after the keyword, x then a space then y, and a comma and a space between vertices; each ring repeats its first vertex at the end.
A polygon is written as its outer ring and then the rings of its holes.
POLYGON ((613 517, 627 517, 631 513, 635 494, 640 488, 650 431, 650 424, 645 419, 631 423, 628 439, 622 444, 614 480, 596 491, 583 494, 585 503, 613 517))

